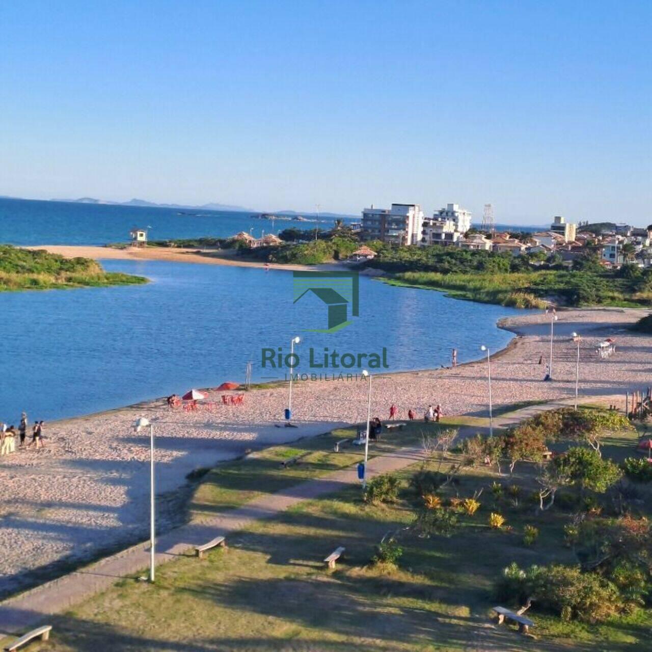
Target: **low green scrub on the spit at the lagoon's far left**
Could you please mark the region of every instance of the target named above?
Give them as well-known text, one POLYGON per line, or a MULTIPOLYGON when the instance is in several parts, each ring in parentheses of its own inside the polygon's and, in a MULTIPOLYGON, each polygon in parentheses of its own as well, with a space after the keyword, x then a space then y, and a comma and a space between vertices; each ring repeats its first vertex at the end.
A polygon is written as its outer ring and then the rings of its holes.
POLYGON ((89 258, 63 258, 44 250, 0 245, 0 291, 85 288, 146 283, 141 276, 105 272, 89 258))

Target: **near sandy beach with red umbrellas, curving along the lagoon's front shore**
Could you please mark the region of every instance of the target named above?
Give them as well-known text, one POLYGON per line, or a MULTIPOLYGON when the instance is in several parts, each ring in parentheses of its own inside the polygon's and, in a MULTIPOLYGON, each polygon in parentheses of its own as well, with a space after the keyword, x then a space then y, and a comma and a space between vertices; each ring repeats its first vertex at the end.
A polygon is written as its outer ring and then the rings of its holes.
MULTIPOLYGON (((102 251, 106 251, 102 249, 102 251)), ((544 314, 503 324, 517 334, 492 361, 494 404, 556 399, 574 394, 576 345, 583 336, 580 392, 624 394, 650 384, 652 337, 625 330, 642 311, 569 310, 556 323, 554 381, 542 382, 549 352, 550 319, 544 314), (597 342, 614 336, 617 351, 601 360, 597 342)), ((220 400, 212 392, 211 400, 220 400)), ((179 523, 186 474, 235 458, 246 449, 313 436, 338 424, 366 418, 366 383, 306 381, 295 385, 297 430, 277 428, 286 407, 285 387, 246 393, 242 406, 218 404, 215 411, 170 410, 164 401, 46 424, 43 449, 23 449, 0 458, 0 593, 20 589, 52 565, 95 556, 147 536, 149 437, 132 423, 145 416, 155 424, 159 524, 179 523)), ((389 374, 374 380, 372 415, 387 418, 389 406, 422 415, 428 404, 445 414, 486 414, 486 362, 455 369, 389 374)), ((18 421, 18 415, 16 415, 18 421)), ((50 568, 48 568, 50 567, 50 568)))

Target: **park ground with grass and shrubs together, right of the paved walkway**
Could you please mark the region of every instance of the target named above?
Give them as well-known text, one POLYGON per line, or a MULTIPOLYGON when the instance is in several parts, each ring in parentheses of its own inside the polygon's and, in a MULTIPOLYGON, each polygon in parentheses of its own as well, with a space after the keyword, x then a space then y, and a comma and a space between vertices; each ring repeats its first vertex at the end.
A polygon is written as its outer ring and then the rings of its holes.
MULTIPOLYGON (((415 441, 424 428, 409 424, 397 438, 415 441)), ((121 580, 53 617, 53 638, 35 649, 170 650, 189 641, 256 652, 647 649, 649 496, 633 496, 621 480, 604 494, 586 488, 585 506, 559 501, 542 511, 533 496, 542 466, 519 465, 505 483, 495 466, 469 466, 442 447, 446 432, 428 424, 427 459, 389 476, 393 500, 365 502, 350 486, 301 503, 231 535, 228 552, 188 553, 160 567, 155 585, 121 580), (424 488, 437 500, 426 501, 424 488), (336 546, 346 557, 329 571, 323 558, 336 546), (489 626, 495 604, 516 608, 529 598, 537 640, 489 626)), ((599 436, 604 460, 626 457, 638 440, 630 429, 599 436)), ((330 437, 321 450, 334 459, 342 453, 324 450, 330 437)), ((303 442, 293 446, 301 451, 303 442)), ((254 486, 256 472, 248 475, 254 486)), ((267 473, 258 479, 258 491, 274 488, 267 473)), ((561 491, 574 495, 572 486, 561 491)))

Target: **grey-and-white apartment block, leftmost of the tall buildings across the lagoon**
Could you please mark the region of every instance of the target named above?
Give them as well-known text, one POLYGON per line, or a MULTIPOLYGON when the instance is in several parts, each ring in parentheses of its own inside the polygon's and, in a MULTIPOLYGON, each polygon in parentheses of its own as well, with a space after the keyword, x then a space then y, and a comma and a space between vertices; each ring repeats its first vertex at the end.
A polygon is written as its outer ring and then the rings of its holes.
POLYGON ((393 203, 391 209, 366 208, 361 236, 392 244, 417 244, 423 211, 419 204, 393 203))

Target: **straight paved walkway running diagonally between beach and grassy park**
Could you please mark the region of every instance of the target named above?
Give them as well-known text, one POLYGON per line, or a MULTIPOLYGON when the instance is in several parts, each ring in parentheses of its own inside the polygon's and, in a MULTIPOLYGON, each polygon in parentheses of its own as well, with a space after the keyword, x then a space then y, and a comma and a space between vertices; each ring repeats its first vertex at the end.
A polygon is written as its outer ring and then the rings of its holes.
MULTIPOLYGON (((601 401, 609 399, 608 396, 600 397, 601 401)), ((583 397, 582 400, 587 402, 591 398, 583 397)), ((567 407, 572 403, 572 400, 561 400, 520 409, 509 416, 496 417, 494 428, 511 426, 539 412, 567 407)), ((465 426, 460 428, 460 435, 473 435, 478 430, 479 428, 475 426, 465 426)), ((369 477, 373 477, 379 473, 398 471, 422 459, 421 447, 402 449, 370 460, 368 474, 369 477)), ((201 523, 191 522, 173 529, 157 537, 156 563, 161 564, 175 557, 186 556, 194 546, 210 541, 218 535, 227 536, 244 529, 256 520, 272 518, 303 500, 333 494, 357 482, 359 481, 356 467, 348 467, 319 479, 296 484, 276 494, 261 496, 243 507, 202 520, 201 523)), ((44 621, 46 616, 61 613, 74 604, 79 604, 107 589, 116 580, 133 575, 147 567, 149 567, 149 542, 123 550, 58 580, 47 582, 0 602, 0 636, 5 633, 23 632, 44 621)))

